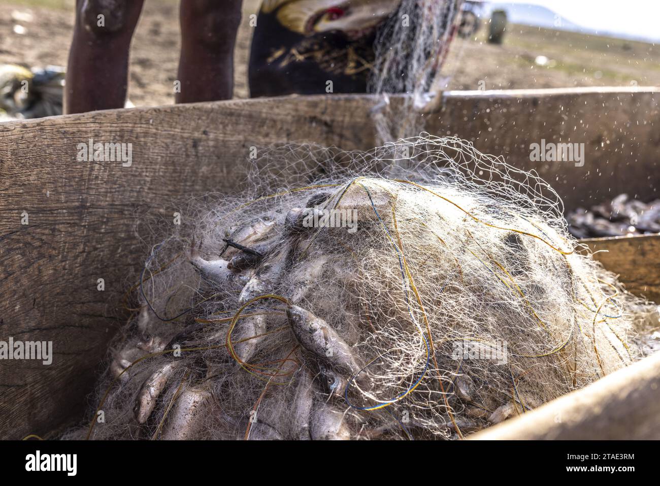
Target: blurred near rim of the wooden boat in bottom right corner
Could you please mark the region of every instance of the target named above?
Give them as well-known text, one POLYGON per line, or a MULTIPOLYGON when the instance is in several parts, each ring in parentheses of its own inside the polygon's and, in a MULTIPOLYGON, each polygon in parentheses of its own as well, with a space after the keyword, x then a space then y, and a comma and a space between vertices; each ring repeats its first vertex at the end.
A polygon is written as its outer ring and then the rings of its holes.
POLYGON ((471 439, 658 440, 660 353, 471 439))

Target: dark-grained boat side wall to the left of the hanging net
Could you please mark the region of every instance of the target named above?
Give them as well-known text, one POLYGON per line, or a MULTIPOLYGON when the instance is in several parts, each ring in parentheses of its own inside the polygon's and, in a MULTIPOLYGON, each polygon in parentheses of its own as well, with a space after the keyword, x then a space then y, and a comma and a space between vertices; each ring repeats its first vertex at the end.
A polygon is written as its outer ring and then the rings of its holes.
POLYGON ((121 296, 145 258, 139 218, 175 197, 236 189, 252 146, 310 139, 358 148, 373 135, 355 129, 352 110, 368 103, 223 102, 0 125, 0 340, 53 341, 54 354, 49 366, 0 361, 0 437, 43 436, 82 418, 106 343, 125 320, 121 296), (133 144, 132 165, 78 162, 77 145, 89 139, 133 144))

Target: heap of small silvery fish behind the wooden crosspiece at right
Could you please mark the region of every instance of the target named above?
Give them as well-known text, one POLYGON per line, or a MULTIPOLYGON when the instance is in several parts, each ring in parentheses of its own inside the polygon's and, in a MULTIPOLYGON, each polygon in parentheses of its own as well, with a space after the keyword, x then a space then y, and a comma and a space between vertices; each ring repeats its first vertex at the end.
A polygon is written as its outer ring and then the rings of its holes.
POLYGON ((660 233, 660 199, 644 203, 620 194, 591 209, 578 208, 566 220, 576 238, 660 233))

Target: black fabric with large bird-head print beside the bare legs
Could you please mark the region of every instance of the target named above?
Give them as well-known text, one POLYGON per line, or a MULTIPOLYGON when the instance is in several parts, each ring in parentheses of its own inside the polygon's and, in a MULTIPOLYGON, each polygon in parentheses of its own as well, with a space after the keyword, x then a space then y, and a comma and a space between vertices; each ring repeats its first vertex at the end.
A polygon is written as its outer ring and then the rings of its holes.
POLYGON ((264 0, 249 61, 251 96, 366 92, 378 27, 401 0, 264 0))

